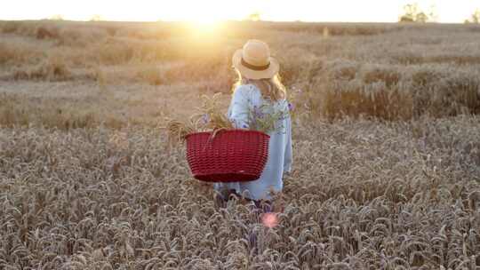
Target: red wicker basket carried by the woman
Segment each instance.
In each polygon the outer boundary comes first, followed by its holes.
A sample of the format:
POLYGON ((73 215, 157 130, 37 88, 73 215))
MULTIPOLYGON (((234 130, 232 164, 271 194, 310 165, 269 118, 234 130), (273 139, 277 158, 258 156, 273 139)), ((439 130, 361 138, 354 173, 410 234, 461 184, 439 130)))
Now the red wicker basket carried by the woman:
POLYGON ((187 136, 187 160, 196 179, 206 182, 252 181, 268 159, 270 137, 260 131, 197 132, 187 136))

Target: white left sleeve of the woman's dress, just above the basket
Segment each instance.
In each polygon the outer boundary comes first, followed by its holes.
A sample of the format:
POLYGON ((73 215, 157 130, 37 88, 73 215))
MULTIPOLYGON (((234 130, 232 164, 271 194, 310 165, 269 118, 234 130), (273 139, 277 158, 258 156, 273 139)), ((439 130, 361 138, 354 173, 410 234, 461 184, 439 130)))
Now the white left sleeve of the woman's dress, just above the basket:
POLYGON ((228 109, 228 118, 234 122, 236 128, 248 128, 248 115, 251 100, 249 98, 249 89, 240 85, 234 91, 230 107, 228 109))

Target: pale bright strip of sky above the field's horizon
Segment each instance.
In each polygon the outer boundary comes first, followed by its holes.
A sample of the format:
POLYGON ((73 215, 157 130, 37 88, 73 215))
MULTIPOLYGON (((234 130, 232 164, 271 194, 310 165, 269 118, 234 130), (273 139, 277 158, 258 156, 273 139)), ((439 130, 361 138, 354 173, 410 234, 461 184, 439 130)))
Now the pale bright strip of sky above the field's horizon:
POLYGON ((2 0, 0 20, 241 20, 260 12, 262 20, 394 22, 403 6, 435 5, 439 22, 463 22, 480 0, 2 0))

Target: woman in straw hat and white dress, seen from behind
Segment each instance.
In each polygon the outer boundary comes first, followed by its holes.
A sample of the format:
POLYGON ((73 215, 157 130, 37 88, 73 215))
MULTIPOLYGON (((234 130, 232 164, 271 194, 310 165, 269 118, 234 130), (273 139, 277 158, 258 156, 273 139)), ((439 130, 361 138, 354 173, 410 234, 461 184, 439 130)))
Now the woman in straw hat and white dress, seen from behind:
POLYGON ((276 130, 268 134, 268 161, 260 179, 216 183, 214 188, 219 191, 217 196, 220 196, 217 200, 224 203, 231 194, 243 195, 257 207, 264 201, 267 203, 266 211, 270 211, 273 195, 271 191, 282 191, 284 171, 290 172, 292 166, 292 122, 288 113, 290 106, 286 100, 285 87, 278 77, 279 64, 275 58, 270 57, 268 44, 249 40, 243 49, 235 52, 232 63, 238 80, 233 87, 228 118, 236 123, 236 128, 248 128, 252 124, 252 118, 249 117, 252 113, 271 114, 274 111, 283 111, 284 114, 280 114, 283 116, 276 120, 276 130))

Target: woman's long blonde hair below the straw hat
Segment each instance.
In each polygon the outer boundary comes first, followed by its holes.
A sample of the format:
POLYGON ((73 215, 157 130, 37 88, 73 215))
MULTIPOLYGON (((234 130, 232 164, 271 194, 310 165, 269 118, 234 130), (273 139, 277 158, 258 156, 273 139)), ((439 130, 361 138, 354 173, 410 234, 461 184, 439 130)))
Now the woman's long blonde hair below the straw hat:
POLYGON ((272 101, 286 99, 286 88, 284 86, 284 83, 282 83, 280 75, 277 74, 269 79, 253 80, 243 77, 242 74, 240 74, 240 72, 238 71, 238 69, 235 70, 238 79, 236 80, 236 83, 234 83, 232 91, 235 91, 236 87, 240 85, 253 84, 257 86, 257 88, 259 88, 261 95, 264 98, 268 98, 272 101))

